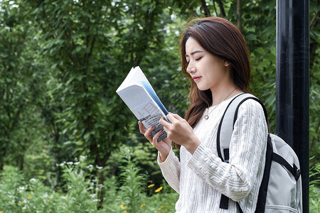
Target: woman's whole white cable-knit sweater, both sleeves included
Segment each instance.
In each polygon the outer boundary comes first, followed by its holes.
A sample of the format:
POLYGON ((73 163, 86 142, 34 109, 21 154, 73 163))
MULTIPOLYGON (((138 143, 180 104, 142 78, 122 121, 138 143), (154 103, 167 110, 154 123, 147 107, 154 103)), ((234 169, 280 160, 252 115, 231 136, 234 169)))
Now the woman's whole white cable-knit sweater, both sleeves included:
POLYGON ((172 149, 164 162, 158 157, 166 182, 179 194, 176 212, 239 212, 235 202, 243 212, 255 212, 265 167, 267 124, 259 103, 252 99, 244 102, 230 142, 230 161, 223 163, 218 158, 216 137, 231 99, 206 109, 209 119, 201 119, 193 129, 201 141, 193 155, 181 146, 180 160, 172 149), (219 207, 221 193, 231 199, 228 209, 219 207))

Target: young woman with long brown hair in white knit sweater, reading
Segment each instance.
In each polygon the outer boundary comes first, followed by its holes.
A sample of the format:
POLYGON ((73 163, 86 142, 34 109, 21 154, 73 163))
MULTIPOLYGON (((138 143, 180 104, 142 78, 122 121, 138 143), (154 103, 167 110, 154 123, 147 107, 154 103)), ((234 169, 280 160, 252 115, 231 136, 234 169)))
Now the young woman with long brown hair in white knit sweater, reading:
POLYGON ((230 141, 230 161, 218 157, 218 124, 233 97, 250 92, 250 59, 245 40, 223 18, 198 18, 181 36, 182 70, 191 80, 191 107, 185 119, 169 114, 161 119, 168 137, 157 142, 153 126, 140 132, 159 151, 166 181, 179 194, 176 212, 255 212, 262 180, 267 124, 262 107, 253 100, 241 104, 230 141), (171 148, 180 146, 180 160, 171 148), (221 209, 221 194, 230 198, 221 209))

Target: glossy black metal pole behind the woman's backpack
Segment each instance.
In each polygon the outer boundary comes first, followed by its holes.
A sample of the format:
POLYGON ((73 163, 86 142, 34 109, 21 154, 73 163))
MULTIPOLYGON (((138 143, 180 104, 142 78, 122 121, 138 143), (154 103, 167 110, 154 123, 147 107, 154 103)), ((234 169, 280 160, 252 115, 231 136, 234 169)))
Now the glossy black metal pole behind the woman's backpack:
POLYGON ((309 0, 277 0, 276 126, 298 155, 309 212, 309 0))

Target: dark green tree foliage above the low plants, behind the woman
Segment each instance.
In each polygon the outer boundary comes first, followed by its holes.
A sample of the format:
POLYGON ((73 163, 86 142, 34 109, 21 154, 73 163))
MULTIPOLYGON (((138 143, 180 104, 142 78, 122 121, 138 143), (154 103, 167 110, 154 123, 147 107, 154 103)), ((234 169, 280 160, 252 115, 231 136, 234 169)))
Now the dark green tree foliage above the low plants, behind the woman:
MULTIPOLYGON (((319 162, 319 2, 310 1, 310 150, 319 162)), ((110 166, 127 144, 150 151, 115 90, 139 65, 169 111, 188 107, 179 35, 188 18, 222 16, 242 31, 250 50, 250 89, 265 102, 275 131, 274 0, 0 1, 0 170, 15 165, 29 178, 62 186, 56 163, 87 155, 110 166), (113 160, 112 160, 113 159, 113 160)), ((144 155, 142 155, 144 156, 144 155)), ((107 175, 92 170, 102 184, 107 175)), ((92 175, 90 174, 90 175, 92 175)), ((159 173, 151 174, 152 180, 159 173)), ((103 197, 103 195, 98 195, 103 197)), ((102 204, 102 203, 101 203, 102 204)), ((1 210, 1 209, 0 209, 1 210)))

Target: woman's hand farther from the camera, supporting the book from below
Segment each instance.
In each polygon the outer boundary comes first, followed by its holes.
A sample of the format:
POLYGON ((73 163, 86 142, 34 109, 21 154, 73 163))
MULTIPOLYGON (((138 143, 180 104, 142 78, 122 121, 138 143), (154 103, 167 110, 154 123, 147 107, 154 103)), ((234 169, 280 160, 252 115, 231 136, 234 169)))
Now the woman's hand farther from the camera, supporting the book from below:
POLYGON ((159 131, 154 135, 154 137, 151 137, 151 131, 154 130, 154 126, 151 126, 149 129, 144 129, 144 124, 142 124, 141 121, 138 121, 139 124, 139 131, 148 139, 148 141, 159 151, 159 157, 162 162, 166 160, 166 157, 169 155, 169 152, 171 150, 171 142, 168 138, 164 138, 162 141, 157 141, 159 136, 162 133, 162 130, 159 131))

